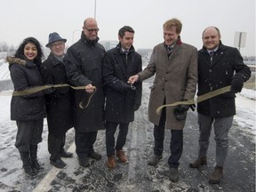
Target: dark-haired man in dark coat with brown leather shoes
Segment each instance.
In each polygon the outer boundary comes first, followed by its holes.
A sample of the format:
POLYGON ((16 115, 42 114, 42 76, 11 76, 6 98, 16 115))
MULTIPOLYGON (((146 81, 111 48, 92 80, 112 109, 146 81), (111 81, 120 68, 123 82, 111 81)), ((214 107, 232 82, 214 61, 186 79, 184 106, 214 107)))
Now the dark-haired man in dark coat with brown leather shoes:
POLYGON ((108 168, 116 167, 116 156, 123 163, 128 161, 123 147, 134 111, 140 108, 142 83, 127 84, 129 76, 139 73, 142 61, 133 47, 134 30, 129 26, 120 28, 119 44, 109 50, 104 57, 103 78, 106 84, 106 148, 108 168), (115 144, 116 128, 119 132, 115 144))

